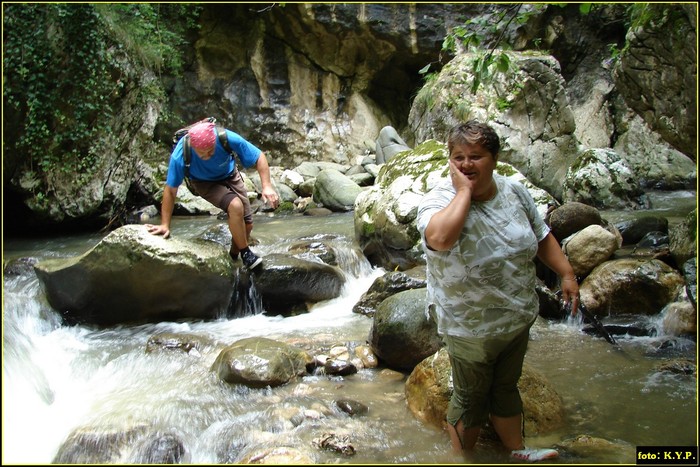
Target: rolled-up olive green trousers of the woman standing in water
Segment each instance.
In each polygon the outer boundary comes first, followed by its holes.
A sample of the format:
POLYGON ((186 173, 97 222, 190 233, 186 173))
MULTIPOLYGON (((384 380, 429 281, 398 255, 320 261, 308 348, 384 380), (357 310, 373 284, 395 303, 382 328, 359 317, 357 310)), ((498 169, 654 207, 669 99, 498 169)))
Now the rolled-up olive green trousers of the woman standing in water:
POLYGON ((444 336, 454 387, 447 408, 451 425, 462 420, 465 428, 481 427, 489 414, 522 413, 518 380, 529 336, 530 326, 489 338, 444 336))

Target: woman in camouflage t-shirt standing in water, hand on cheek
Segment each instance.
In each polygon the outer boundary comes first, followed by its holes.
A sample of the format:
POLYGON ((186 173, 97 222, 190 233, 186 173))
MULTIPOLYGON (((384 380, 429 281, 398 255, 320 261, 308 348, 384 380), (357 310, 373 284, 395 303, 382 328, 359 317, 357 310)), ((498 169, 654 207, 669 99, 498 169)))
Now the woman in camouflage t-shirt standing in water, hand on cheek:
POLYGON ((561 277, 564 301, 576 310, 573 268, 527 189, 494 173, 500 141, 489 125, 472 120, 455 126, 447 147, 450 178, 425 195, 417 226, 429 312, 452 366, 452 446, 469 457, 490 418, 511 457, 557 457, 554 449, 525 447, 517 383, 539 312, 533 259, 561 277))

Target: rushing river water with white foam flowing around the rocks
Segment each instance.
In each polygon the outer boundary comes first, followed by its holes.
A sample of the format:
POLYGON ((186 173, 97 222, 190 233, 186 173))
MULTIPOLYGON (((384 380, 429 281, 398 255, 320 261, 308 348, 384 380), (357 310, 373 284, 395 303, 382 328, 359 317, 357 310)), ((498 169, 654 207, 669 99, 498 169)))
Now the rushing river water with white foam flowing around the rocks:
MULTIPOLYGON (((668 215, 672 222, 695 204, 694 192, 659 196, 657 213, 668 215), (677 209, 666 210, 671 204, 677 209)), ((608 214, 604 217, 612 221, 636 215, 608 214)), ((219 222, 175 218, 173 235, 200 235, 219 222)), ((254 250, 262 255, 284 251, 291 239, 314 234, 339 238, 339 248, 348 251, 341 263, 348 282, 339 298, 287 318, 262 313, 207 322, 68 327, 48 306, 33 273, 5 275, 3 464, 48 464, 75 428, 129 423, 175 431, 186 447, 183 460, 192 464, 226 462, 221 454, 227 452, 226 440, 230 444, 237 437, 250 443, 300 447, 311 453, 315 463, 457 462, 449 453, 447 435, 424 425, 408 410, 407 375, 381 365, 346 377, 307 376, 260 390, 232 387, 212 377, 209 368, 221 346, 243 337, 266 336, 316 347, 367 339, 371 318, 352 313, 352 306, 385 271, 352 254, 352 213, 323 218, 258 216, 253 236, 259 244, 254 250), (204 336, 212 344, 197 355, 146 354, 149 337, 166 331, 204 336), (355 399, 369 411, 356 417, 330 413, 328 407, 336 399, 355 399), (293 429, 250 428, 269 425, 279 418, 278 411, 290 405, 306 407, 308 420, 293 429), (325 432, 347 435, 355 454, 345 456, 314 446, 325 432)), ((4 261, 74 256, 100 238, 5 239, 4 261)), ((559 393, 566 422, 556 432, 528 436, 528 444, 565 446, 579 435, 614 443, 614 448, 589 452, 562 449, 559 462, 586 465, 635 463, 636 446, 697 445, 695 376, 658 371, 666 358, 697 361, 695 342, 663 335, 619 336, 617 340, 621 350, 584 333, 580 322, 541 319, 535 324, 526 363, 543 373, 559 393)), ((480 463, 508 461, 498 452, 482 456, 480 463)))

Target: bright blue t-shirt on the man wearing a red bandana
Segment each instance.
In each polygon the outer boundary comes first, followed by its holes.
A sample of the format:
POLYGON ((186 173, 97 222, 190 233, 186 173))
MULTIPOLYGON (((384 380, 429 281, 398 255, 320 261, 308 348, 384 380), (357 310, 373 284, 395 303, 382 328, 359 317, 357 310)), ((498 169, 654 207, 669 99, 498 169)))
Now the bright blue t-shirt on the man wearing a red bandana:
MULTIPOLYGON (((258 147, 249 143, 241 135, 231 130, 226 130, 226 137, 228 138, 229 146, 238 155, 241 164, 243 164, 245 168, 252 167, 258 162, 258 158, 262 153, 258 147)), ((165 183, 173 188, 180 186, 185 178, 185 160, 182 151, 184 141, 185 138, 180 138, 172 154, 170 154, 168 177, 165 183)), ((190 159, 190 178, 194 180, 225 180, 233 174, 236 168, 235 161, 221 145, 218 136, 216 138, 214 155, 206 161, 199 157, 194 148, 190 149, 192 151, 192 157, 190 159)))

